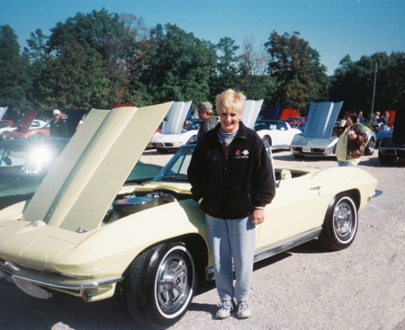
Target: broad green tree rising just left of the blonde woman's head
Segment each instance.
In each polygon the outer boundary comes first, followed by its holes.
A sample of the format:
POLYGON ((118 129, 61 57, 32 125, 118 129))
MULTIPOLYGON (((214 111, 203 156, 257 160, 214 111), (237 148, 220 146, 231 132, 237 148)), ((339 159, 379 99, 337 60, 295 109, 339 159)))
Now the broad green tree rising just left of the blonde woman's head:
POLYGON ((172 24, 157 24, 151 30, 151 42, 145 58, 147 70, 140 80, 152 102, 206 101, 216 61, 211 42, 199 40, 172 24))

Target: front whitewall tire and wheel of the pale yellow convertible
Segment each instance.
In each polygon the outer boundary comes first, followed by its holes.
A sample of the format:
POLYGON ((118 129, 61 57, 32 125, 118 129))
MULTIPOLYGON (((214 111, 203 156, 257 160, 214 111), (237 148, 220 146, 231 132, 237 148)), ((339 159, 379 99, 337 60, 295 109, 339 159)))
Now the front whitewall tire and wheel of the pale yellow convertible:
POLYGON ((182 242, 154 246, 130 264, 127 281, 132 317, 141 326, 166 329, 184 316, 193 299, 193 256, 182 242))

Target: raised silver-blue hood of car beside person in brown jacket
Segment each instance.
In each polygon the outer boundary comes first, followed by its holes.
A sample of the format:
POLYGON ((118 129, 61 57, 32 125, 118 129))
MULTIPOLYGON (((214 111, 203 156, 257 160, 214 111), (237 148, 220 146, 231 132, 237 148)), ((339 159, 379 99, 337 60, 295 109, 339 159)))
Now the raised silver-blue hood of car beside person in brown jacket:
POLYGON ((304 138, 330 138, 343 102, 311 103, 303 132, 304 138))

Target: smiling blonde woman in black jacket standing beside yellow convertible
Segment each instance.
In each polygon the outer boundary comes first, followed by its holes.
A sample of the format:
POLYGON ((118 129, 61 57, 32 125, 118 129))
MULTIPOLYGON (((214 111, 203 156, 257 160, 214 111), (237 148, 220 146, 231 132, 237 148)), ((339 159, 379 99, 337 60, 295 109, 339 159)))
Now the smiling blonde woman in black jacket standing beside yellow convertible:
POLYGON ((266 147, 240 120, 246 97, 231 89, 217 96, 220 124, 198 143, 188 168, 193 200, 205 212, 215 282, 220 296, 216 317, 229 317, 233 299, 238 317, 250 317, 248 304, 256 226, 275 197, 275 178, 266 147), (232 259, 235 268, 233 286, 232 259))

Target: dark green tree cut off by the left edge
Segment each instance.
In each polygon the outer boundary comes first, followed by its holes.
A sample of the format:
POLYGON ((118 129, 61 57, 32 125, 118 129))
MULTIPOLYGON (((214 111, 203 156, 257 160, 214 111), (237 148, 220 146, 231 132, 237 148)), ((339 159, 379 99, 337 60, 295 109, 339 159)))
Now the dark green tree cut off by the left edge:
POLYGON ((20 45, 9 25, 0 26, 0 105, 10 111, 23 111, 30 104, 26 91, 30 88, 28 59, 20 54, 20 45))

